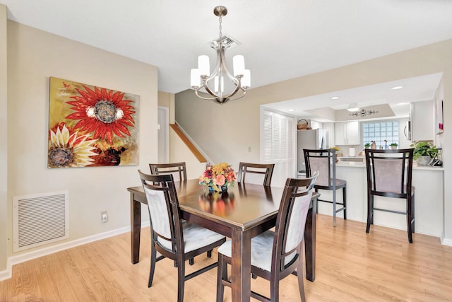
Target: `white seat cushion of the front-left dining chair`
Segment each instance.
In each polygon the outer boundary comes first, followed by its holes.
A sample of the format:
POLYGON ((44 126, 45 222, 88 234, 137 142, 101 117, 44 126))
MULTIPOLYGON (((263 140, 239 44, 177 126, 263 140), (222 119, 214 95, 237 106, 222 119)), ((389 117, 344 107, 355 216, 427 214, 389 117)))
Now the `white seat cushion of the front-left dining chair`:
MULTIPOLYGON (((202 248, 206 245, 210 245, 210 243, 225 238, 225 236, 222 236, 219 233, 215 233, 194 223, 189 223, 188 221, 182 222, 182 229, 184 232, 184 252, 191 252, 192 250, 202 248)), ((172 249, 171 243, 168 240, 163 238, 158 238, 157 240, 167 250, 172 249)))

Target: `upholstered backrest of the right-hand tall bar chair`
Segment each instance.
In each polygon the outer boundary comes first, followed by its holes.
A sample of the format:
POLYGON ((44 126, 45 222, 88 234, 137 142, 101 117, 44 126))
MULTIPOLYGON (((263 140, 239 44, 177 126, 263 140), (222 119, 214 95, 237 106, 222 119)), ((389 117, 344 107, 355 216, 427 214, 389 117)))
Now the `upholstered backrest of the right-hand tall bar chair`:
POLYGON ((413 149, 366 149, 369 194, 406 198, 412 190, 413 149))

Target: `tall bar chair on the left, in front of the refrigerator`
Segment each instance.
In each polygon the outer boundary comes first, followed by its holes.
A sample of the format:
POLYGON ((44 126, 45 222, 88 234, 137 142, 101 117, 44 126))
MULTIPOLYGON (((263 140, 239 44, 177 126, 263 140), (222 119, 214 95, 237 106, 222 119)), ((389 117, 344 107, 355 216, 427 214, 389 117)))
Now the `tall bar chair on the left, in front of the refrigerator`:
POLYGON ((319 171, 314 188, 319 190, 331 190, 333 200, 317 199, 318 202, 333 204, 333 226, 336 226, 336 214, 344 212, 347 219, 347 181, 336 178, 335 149, 303 149, 304 161, 306 163, 306 175, 309 177, 312 171, 319 171), (336 191, 342 189, 342 202, 338 202, 336 191), (337 204, 342 205, 339 209, 337 204))

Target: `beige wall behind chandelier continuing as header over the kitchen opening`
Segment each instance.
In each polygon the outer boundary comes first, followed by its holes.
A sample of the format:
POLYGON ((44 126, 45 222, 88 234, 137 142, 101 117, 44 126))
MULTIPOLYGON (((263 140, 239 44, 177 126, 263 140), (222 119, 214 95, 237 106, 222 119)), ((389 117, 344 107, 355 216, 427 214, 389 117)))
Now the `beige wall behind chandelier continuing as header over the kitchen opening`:
MULTIPOLYGON (((386 81, 444 72, 444 181, 452 181, 452 40, 302 76, 248 91, 225 105, 177 93, 176 120, 215 162, 259 161, 260 105, 342 91, 386 81), (251 152, 249 151, 251 147, 251 152)), ((444 186, 444 214, 452 217, 452 187, 444 186)), ((452 245, 452 220, 445 219, 444 243, 452 245)))

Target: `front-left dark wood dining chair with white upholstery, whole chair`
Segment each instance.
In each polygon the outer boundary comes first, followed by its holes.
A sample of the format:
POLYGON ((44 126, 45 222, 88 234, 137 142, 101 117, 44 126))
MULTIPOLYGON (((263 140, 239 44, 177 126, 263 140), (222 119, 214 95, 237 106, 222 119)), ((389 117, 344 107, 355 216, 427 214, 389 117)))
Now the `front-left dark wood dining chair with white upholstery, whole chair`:
POLYGON ((213 250, 225 242, 225 236, 183 221, 172 174, 149 175, 138 170, 150 216, 150 273, 148 287, 153 284, 156 262, 165 257, 177 267, 177 301, 184 301, 184 283, 217 266, 217 262, 185 274, 185 261, 213 250), (157 257, 157 252, 160 256, 157 257))

